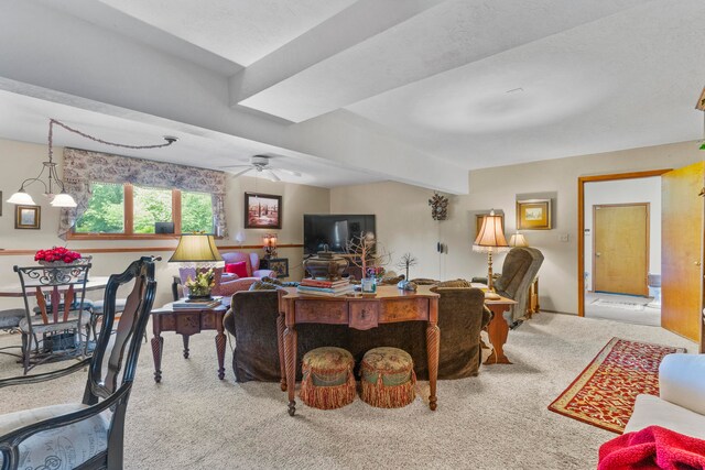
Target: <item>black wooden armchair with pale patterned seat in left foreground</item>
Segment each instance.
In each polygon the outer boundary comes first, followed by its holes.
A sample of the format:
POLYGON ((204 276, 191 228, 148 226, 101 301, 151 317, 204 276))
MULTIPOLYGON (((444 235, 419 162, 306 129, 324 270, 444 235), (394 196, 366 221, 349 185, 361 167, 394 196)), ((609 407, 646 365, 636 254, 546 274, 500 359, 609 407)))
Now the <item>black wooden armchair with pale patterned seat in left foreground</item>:
POLYGON ((0 389, 58 379, 88 368, 82 403, 45 406, 0 416, 0 468, 122 469, 124 419, 142 335, 156 282, 154 262, 143 256, 108 280, 100 335, 91 358, 36 375, 0 380, 0 389), (116 321, 118 288, 134 281, 116 321))

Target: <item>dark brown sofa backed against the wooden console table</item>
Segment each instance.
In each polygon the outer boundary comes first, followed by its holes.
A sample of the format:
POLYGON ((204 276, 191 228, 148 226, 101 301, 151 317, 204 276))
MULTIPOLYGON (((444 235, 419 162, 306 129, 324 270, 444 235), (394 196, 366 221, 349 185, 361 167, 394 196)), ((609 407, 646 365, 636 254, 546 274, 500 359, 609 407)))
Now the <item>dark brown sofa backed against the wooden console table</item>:
MULTIPOLYGON (((438 379, 477 375, 481 352, 480 330, 491 314, 485 309, 485 295, 477 288, 437 287, 438 328, 441 329, 438 379)), ((225 328, 235 337, 232 370, 238 382, 280 380, 276 343, 279 315, 276 291, 247 291, 232 295, 225 328)), ((368 350, 394 347, 409 352, 420 380, 427 380, 426 323, 401 321, 360 331, 344 325, 296 325, 297 358, 323 346, 345 348, 359 364, 368 350)), ((301 361, 296 364, 301 380, 301 361)))

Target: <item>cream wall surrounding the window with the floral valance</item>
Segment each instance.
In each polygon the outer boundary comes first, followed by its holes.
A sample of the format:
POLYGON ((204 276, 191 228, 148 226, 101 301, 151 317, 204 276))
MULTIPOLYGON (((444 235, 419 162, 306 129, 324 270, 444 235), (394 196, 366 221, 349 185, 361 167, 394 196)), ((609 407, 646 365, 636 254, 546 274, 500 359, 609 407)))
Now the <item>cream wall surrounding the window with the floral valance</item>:
MULTIPOLYGON (((41 168, 41 162, 46 160, 46 145, 37 145, 25 142, 0 139, 0 164, 6 171, 0 172, 0 190, 2 192, 2 216, 0 217, 0 285, 17 284, 17 274, 12 266, 34 264, 33 255, 8 255, 2 254, 2 250, 23 249, 36 251, 39 249, 54 245, 66 245, 73 250, 83 251, 85 249, 108 249, 108 248, 133 248, 135 251, 119 253, 95 253, 93 254, 95 275, 109 275, 121 272, 128 263, 140 255, 158 254, 163 261, 156 266, 158 297, 156 304, 163 304, 171 298, 172 275, 177 273, 177 265, 169 264, 166 260, 172 254, 171 247, 175 248, 177 240, 119 240, 119 241, 83 241, 69 240, 65 242, 56 234, 58 227, 59 209, 48 205, 41 194, 41 184, 29 187, 29 193, 34 201, 42 206, 41 230, 17 230, 14 229, 14 207, 6 203, 12 193, 18 190, 23 179, 35 177, 41 168), (39 186, 37 186, 39 185, 39 186), (149 248, 169 248, 169 250, 150 251, 149 248)), ((54 147, 54 157, 59 164, 63 160, 63 149, 54 147)), ((218 240, 218 245, 237 245, 235 234, 243 227, 243 194, 254 192, 275 194, 283 196, 283 219, 281 230, 248 229, 243 230, 247 240, 245 244, 260 245, 261 237, 265 232, 276 232, 280 244, 303 243, 303 214, 315 211, 327 214, 329 210, 329 190, 313 186, 295 185, 288 183, 272 183, 261 178, 239 177, 229 179, 227 184, 226 212, 230 237, 227 240, 218 240)), ((246 249, 243 251, 257 251, 263 255, 262 249, 246 249)), ((301 267, 303 250, 301 248, 283 248, 279 250, 279 255, 289 258, 290 277, 299 280, 302 277, 301 267)), ((98 298, 101 295, 98 294, 98 298)), ((93 295, 95 298, 95 295, 93 295)), ((20 298, 0 297, 0 309, 21 307, 20 298)))

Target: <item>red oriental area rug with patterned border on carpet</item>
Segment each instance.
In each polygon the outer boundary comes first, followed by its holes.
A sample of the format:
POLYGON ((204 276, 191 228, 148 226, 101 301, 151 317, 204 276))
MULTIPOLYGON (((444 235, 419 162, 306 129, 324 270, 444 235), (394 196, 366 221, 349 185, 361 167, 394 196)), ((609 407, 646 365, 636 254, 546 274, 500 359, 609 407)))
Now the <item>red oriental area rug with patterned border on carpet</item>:
POLYGON ((659 364, 683 348, 612 338, 549 409, 622 433, 637 395, 659 394, 659 364))

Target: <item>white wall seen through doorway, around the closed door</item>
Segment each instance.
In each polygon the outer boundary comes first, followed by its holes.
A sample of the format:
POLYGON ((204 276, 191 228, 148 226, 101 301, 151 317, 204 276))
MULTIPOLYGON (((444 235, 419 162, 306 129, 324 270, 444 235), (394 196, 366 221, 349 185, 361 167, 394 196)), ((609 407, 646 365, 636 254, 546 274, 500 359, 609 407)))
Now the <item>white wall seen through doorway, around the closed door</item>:
POLYGON ((593 206, 649 203, 649 273, 661 274, 661 177, 585 184, 585 283, 593 283, 593 206))

